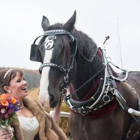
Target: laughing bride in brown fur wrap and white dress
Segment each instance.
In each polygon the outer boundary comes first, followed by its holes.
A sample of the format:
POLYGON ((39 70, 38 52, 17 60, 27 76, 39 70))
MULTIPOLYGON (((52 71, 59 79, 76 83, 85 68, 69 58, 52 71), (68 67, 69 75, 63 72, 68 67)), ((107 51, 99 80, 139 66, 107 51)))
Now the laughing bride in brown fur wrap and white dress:
MULTIPOLYGON (((16 112, 19 122, 13 122, 16 140, 66 140, 66 136, 41 104, 28 96, 27 82, 19 69, 0 71, 0 93, 18 98, 20 110, 16 112)), ((56 115, 56 114, 55 114, 56 115)), ((11 140, 7 129, 0 130, 0 140, 11 140)))

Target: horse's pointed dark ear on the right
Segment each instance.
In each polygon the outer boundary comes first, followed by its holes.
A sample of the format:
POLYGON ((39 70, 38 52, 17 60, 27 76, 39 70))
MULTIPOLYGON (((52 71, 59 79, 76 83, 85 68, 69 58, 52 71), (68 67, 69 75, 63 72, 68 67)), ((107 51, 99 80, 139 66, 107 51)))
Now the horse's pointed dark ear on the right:
POLYGON ((74 11, 74 14, 72 17, 64 24, 64 29, 67 31, 71 31, 74 28, 74 24, 76 21, 76 10, 74 11))

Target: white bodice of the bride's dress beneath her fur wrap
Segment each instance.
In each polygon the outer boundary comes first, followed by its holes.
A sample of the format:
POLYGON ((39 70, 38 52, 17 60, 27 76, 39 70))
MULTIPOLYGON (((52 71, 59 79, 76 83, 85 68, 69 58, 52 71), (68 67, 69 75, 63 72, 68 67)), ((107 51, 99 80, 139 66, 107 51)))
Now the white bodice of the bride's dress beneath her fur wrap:
POLYGON ((35 135, 39 131, 39 122, 36 117, 27 118, 18 116, 18 120, 23 131, 24 140, 34 140, 35 135))

